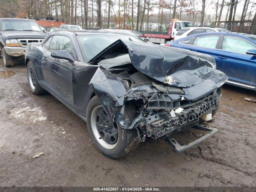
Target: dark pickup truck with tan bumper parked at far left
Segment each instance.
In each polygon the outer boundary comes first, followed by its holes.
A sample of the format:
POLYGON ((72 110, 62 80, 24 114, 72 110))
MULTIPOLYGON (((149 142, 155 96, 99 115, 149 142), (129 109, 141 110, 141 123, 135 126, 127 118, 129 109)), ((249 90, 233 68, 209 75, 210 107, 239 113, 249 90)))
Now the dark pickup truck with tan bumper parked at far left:
POLYGON ((24 56, 28 43, 41 42, 46 34, 34 20, 0 19, 0 49, 4 65, 14 66, 15 58, 24 56))

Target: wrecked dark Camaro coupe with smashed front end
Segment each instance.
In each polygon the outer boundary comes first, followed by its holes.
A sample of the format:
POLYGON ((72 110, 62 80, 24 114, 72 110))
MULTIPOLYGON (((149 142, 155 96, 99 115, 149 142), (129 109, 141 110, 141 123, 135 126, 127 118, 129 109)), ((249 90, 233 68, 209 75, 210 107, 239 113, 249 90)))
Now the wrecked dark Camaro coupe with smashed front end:
POLYGON ((28 45, 25 60, 31 91, 50 92, 85 120, 110 158, 146 137, 181 152, 217 131, 199 124, 216 114, 227 80, 211 56, 131 36, 63 31, 28 45), (181 146, 172 135, 188 128, 210 133, 181 146))

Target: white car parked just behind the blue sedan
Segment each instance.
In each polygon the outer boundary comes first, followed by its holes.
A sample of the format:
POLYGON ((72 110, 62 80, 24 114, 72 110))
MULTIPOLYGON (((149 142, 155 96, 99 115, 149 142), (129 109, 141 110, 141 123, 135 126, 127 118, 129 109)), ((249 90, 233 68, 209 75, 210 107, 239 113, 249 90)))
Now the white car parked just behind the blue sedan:
POLYGON ((212 27, 185 27, 178 31, 173 40, 198 34, 198 33, 213 33, 213 32, 226 32, 230 33, 229 30, 223 28, 212 28, 212 27))

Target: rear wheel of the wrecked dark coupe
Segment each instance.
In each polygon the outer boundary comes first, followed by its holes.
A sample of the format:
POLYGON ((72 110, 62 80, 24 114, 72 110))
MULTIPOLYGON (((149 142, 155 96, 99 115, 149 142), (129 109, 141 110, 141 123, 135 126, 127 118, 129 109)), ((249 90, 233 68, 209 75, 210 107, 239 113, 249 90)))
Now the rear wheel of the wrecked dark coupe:
POLYGON ((35 95, 41 95, 44 93, 44 89, 40 87, 38 84, 38 80, 36 77, 36 72, 34 70, 34 66, 31 61, 28 62, 27 65, 27 71, 28 71, 28 84, 30 86, 30 90, 35 95))

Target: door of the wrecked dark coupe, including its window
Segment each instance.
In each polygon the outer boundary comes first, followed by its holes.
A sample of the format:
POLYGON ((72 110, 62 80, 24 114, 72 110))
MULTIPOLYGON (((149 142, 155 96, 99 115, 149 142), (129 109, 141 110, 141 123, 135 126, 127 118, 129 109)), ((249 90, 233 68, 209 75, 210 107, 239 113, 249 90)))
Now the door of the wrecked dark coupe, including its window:
MULTIPOLYGON (((54 50, 67 50, 75 59, 74 46, 68 36, 54 35, 50 43, 50 52, 54 50)), ((74 106, 73 90, 72 90, 72 68, 73 64, 65 59, 53 58, 51 54, 47 57, 48 70, 50 71, 52 91, 65 104, 74 106)))

